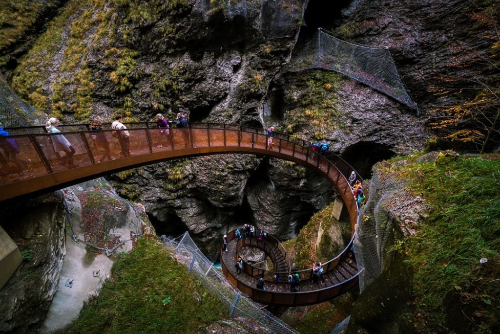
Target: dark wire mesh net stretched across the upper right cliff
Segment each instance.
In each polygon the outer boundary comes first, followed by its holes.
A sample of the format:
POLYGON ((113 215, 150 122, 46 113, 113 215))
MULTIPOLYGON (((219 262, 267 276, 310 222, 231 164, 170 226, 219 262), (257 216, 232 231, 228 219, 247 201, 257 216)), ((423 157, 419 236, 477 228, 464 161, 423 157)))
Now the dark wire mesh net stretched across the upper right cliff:
POLYGON ((342 73, 416 109, 386 48, 352 44, 319 29, 285 68, 288 72, 307 69, 342 73))

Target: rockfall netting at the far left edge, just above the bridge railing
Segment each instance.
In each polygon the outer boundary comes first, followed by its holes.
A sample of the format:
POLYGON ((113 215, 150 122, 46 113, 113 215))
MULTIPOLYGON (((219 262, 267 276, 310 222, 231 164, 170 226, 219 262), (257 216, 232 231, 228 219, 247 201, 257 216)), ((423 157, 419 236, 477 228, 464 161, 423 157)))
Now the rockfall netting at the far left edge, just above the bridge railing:
POLYGON ((0 123, 4 128, 30 126, 36 110, 19 99, 0 75, 0 123))

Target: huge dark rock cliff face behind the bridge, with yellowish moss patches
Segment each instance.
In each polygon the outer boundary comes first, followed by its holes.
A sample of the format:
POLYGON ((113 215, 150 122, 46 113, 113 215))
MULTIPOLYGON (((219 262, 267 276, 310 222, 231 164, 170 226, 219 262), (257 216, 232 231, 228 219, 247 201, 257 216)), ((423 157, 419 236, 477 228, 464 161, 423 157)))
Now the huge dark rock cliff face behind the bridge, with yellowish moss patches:
MULTIPOLYGON (((485 50, 468 29, 474 6, 70 0, 15 70, 12 61, 2 70, 22 98, 66 123, 115 113, 151 121, 161 112, 171 119, 187 109, 191 122, 275 125, 306 140, 325 138, 368 176, 374 162, 424 147, 429 133, 422 120, 449 102, 434 95, 438 77, 464 76, 465 85, 467 76, 451 60, 461 52, 455 43, 485 50), (419 113, 341 75, 279 73, 318 27, 388 46, 419 113)), ((144 202, 165 233, 187 228, 214 244, 250 217, 287 238, 327 202, 330 188, 286 166, 260 157, 196 158, 145 167, 114 185, 144 202), (282 173, 302 177, 286 180, 282 173)))

